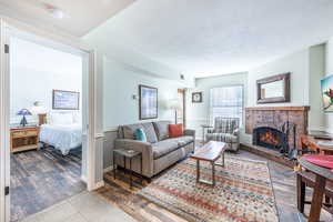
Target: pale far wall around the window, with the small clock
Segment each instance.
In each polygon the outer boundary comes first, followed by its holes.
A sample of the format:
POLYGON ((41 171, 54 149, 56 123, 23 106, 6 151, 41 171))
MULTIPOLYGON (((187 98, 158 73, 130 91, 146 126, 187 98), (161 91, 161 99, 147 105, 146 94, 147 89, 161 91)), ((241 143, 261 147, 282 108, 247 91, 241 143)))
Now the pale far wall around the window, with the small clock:
POLYGON ((210 89, 214 87, 235 84, 244 85, 244 107, 246 107, 248 72, 200 78, 195 80, 195 88, 190 89, 186 93, 186 118, 188 128, 194 129, 196 131, 198 138, 202 138, 202 128, 200 125, 209 123, 210 89), (203 102, 192 103, 192 92, 202 92, 203 102))

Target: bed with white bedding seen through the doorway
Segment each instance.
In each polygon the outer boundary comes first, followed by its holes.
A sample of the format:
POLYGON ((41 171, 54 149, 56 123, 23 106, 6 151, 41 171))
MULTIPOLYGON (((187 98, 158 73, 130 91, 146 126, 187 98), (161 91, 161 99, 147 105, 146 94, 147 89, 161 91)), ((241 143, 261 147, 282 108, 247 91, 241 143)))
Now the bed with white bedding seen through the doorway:
POLYGON ((73 119, 71 113, 57 115, 51 115, 49 123, 40 127, 40 141, 67 155, 70 150, 82 145, 82 125, 70 120, 73 119))

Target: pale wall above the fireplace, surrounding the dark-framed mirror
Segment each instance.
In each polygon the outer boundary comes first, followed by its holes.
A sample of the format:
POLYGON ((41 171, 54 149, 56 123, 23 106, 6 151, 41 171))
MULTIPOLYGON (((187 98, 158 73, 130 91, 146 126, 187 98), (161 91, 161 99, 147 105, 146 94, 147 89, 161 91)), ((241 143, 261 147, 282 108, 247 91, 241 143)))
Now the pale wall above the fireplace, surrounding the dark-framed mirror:
POLYGON ((320 80, 325 70, 325 44, 300 50, 249 71, 249 107, 311 105, 309 130, 325 130, 320 80), (291 102, 256 104, 256 80, 291 72, 291 102))

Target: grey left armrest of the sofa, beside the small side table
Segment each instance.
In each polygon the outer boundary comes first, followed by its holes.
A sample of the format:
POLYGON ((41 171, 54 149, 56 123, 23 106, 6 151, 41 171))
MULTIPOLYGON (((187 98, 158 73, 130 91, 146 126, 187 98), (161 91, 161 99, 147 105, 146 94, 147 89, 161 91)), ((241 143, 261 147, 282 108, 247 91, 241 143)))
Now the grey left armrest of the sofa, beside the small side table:
POLYGON ((151 143, 130 139, 115 139, 114 149, 127 149, 141 152, 142 173, 147 176, 153 175, 153 151, 151 143))

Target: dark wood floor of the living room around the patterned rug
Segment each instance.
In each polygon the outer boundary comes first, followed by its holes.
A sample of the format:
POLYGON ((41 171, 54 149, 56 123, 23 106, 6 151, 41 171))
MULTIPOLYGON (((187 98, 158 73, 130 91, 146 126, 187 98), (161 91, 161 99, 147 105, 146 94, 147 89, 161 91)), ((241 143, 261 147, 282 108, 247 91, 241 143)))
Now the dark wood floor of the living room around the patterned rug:
MULTIPOLYGON (((265 160, 264 158, 242 150, 238 154, 228 153, 228 155, 238 155, 252 160, 265 160)), ((296 209, 296 180, 294 171, 291 168, 274 161, 265 161, 269 163, 280 221, 306 221, 306 219, 300 214, 296 209)), ((184 221, 178 215, 154 203, 148 202, 143 198, 140 198, 135 194, 138 190, 148 184, 147 181, 143 185, 141 183, 135 183, 134 189, 130 190, 128 185, 128 176, 123 172, 120 173, 121 175, 117 180, 113 180, 112 172, 105 173, 105 186, 99 189, 97 193, 118 204, 138 221, 184 221)), ((311 191, 307 193, 311 194, 311 191)), ((311 195, 307 198, 310 199, 311 195)), ((309 205, 305 211, 309 213, 309 205)), ((321 219, 323 221, 332 221, 331 214, 325 211, 322 211, 321 219)))

